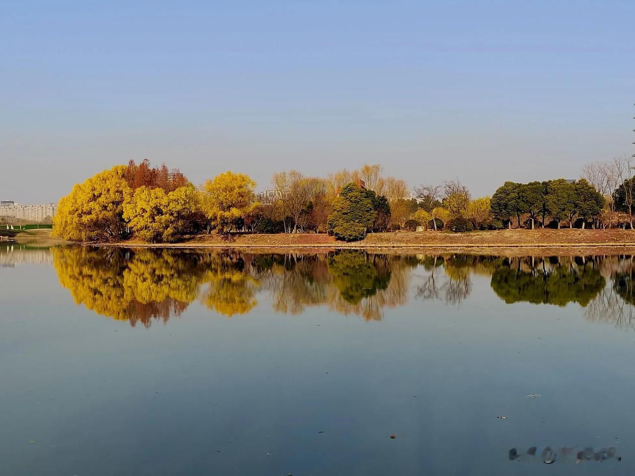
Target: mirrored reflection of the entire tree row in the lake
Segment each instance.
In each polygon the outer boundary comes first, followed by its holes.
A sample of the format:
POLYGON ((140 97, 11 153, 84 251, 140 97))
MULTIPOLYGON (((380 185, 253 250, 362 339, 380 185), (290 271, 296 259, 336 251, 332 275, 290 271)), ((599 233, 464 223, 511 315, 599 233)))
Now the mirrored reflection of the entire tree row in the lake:
POLYGON ((635 329, 630 256, 259 254, 73 246, 53 248, 51 254, 62 286, 77 304, 133 326, 166 322, 195 300, 227 317, 248 314, 262 300, 285 314, 325 306, 380 321, 387 308, 410 298, 460 306, 485 279, 508 304, 577 303, 589 321, 635 329))

